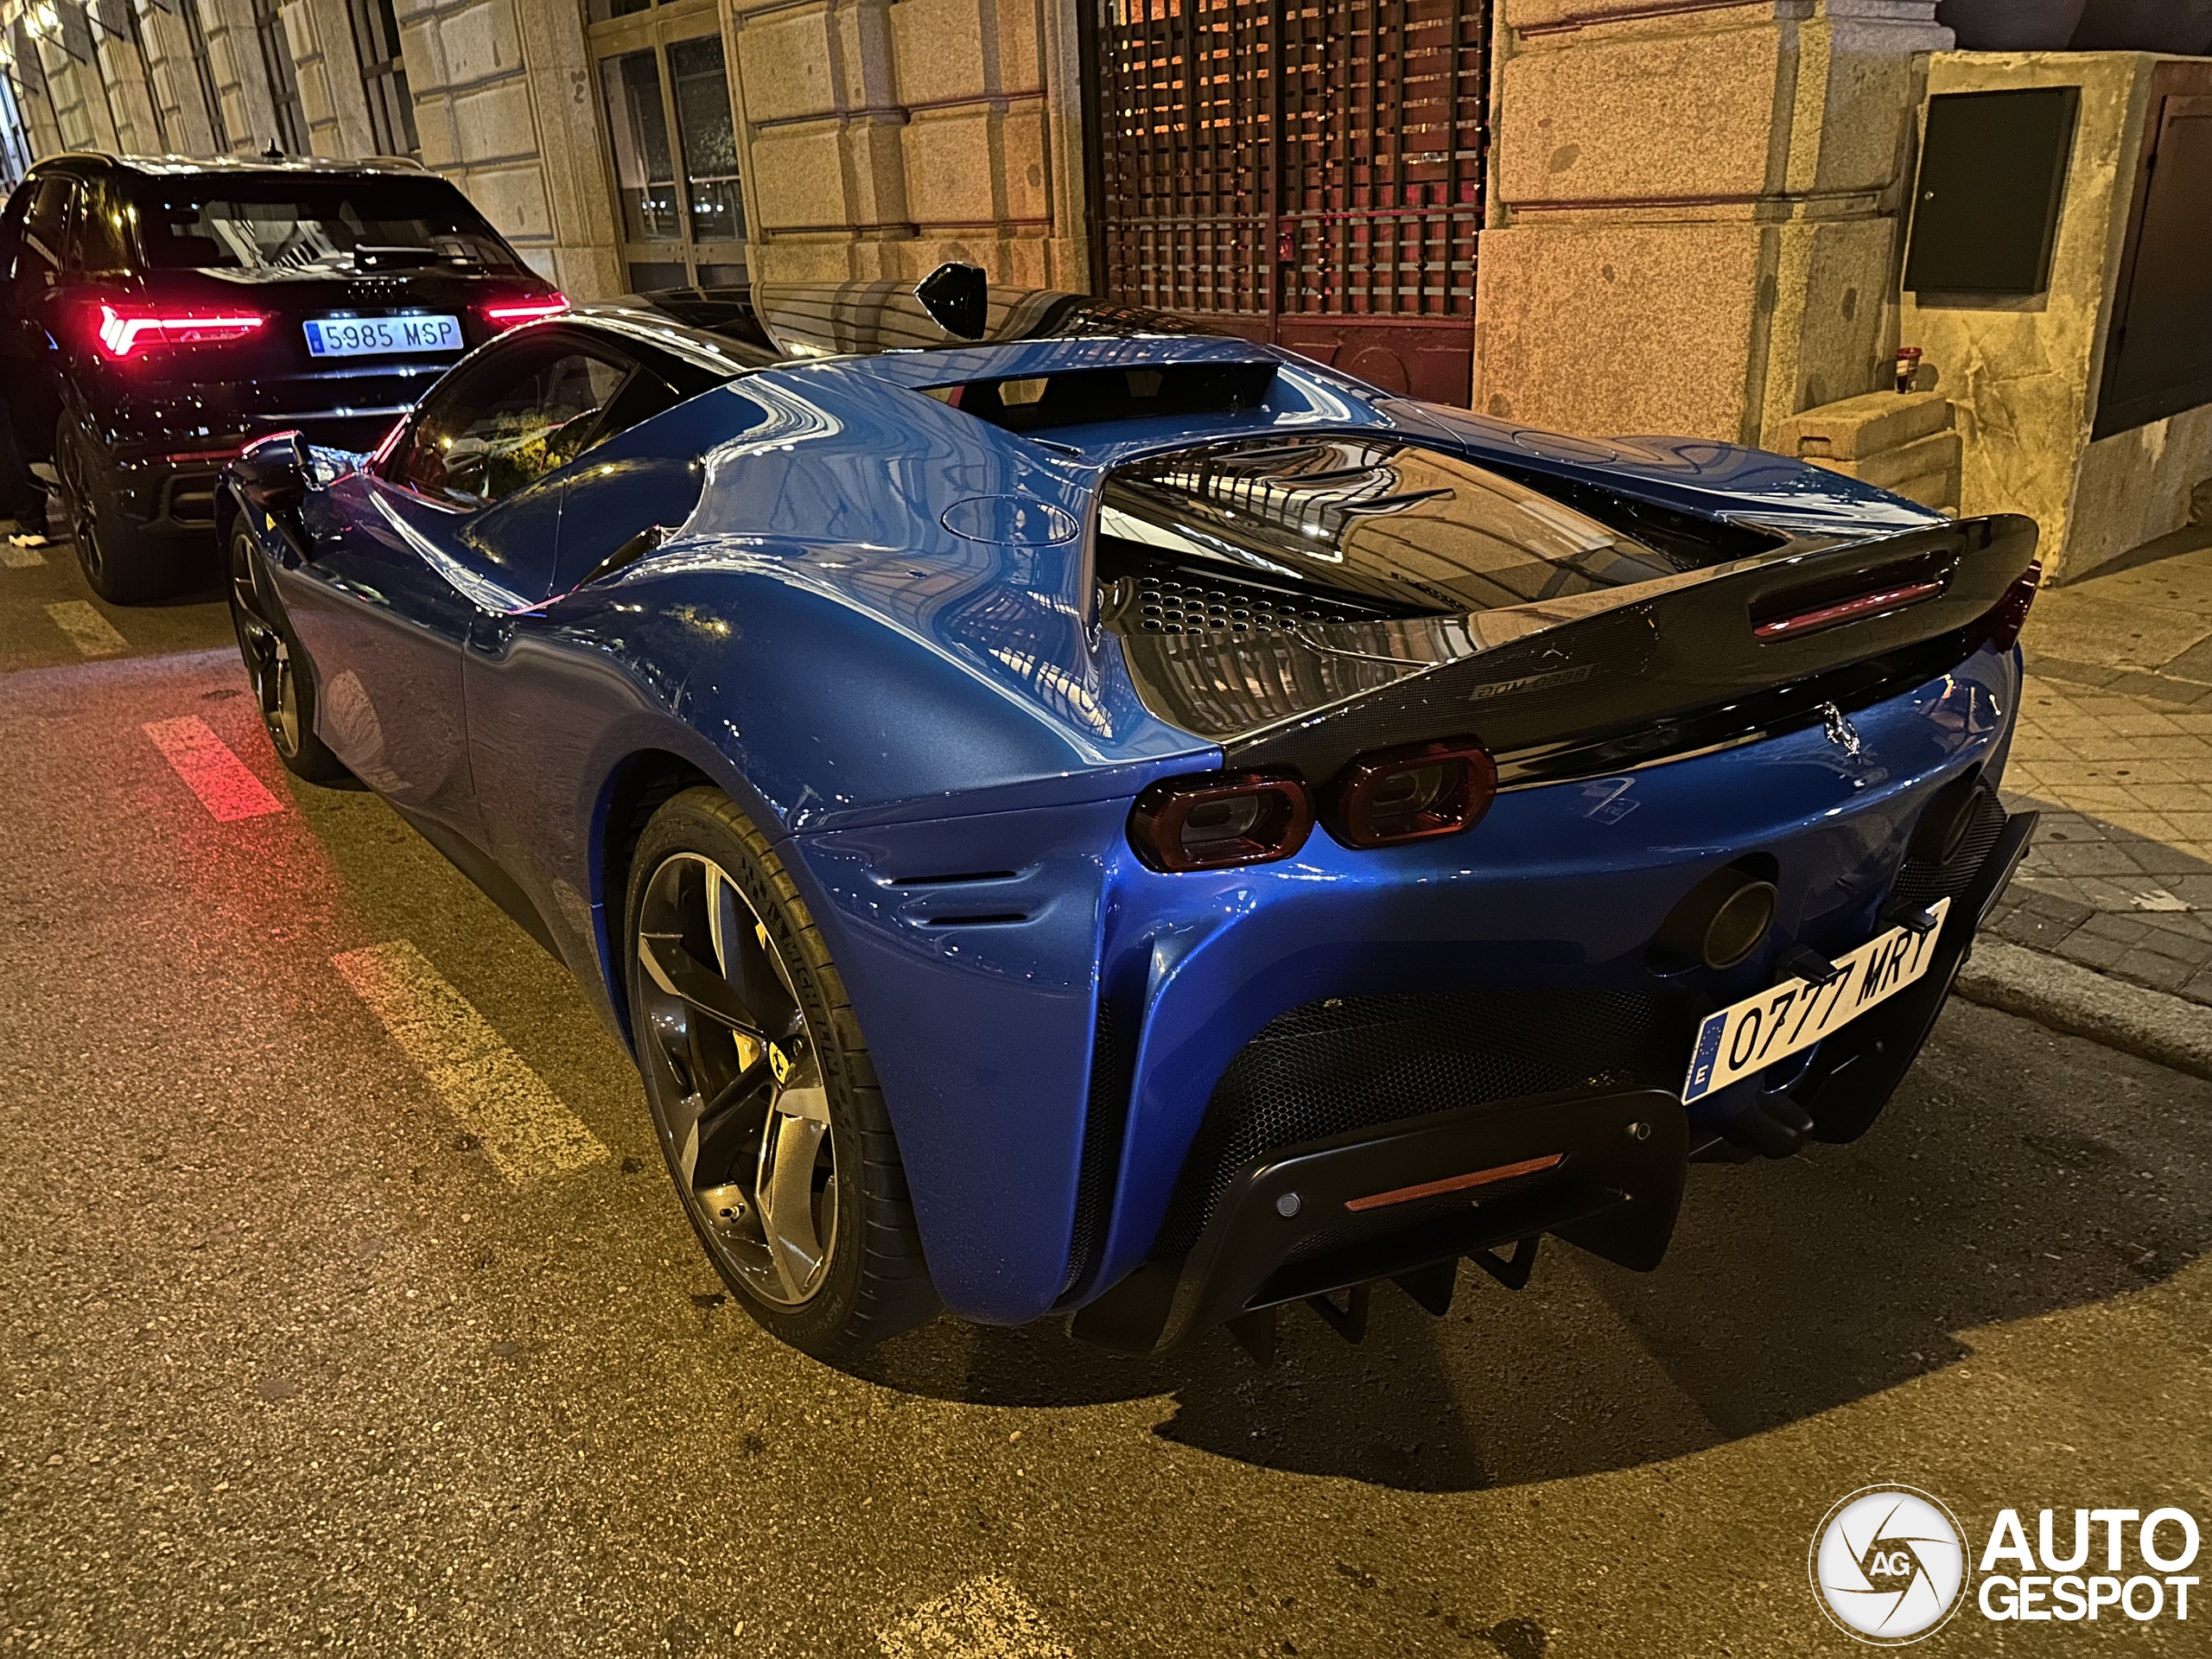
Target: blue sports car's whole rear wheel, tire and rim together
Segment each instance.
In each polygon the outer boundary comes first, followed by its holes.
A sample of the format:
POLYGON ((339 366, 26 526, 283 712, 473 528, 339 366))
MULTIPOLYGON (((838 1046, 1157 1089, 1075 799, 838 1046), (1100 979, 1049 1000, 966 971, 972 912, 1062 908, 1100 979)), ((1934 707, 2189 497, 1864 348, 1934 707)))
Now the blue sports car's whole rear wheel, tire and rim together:
POLYGON ((655 1137, 745 1312, 825 1360, 931 1318, 860 1022, 790 872, 719 790, 653 814, 622 945, 655 1137))

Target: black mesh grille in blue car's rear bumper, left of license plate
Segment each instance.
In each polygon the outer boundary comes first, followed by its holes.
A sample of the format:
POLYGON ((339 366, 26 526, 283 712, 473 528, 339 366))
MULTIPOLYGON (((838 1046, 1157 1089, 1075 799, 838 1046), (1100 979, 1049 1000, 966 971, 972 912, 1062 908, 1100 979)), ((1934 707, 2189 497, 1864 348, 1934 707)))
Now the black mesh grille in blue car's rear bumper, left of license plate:
POLYGON ((1686 1060, 1688 1031, 1644 991, 1310 1002, 1221 1075, 1152 1254, 1188 1254, 1237 1170, 1267 1152, 1562 1088, 1672 1088, 1686 1060))

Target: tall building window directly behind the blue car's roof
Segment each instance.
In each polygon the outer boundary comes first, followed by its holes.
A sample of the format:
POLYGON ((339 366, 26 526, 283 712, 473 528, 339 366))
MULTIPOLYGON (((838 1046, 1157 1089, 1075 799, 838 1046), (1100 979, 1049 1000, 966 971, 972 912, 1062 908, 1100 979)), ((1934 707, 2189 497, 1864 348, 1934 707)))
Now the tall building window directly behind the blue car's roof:
POLYGON ((730 64, 712 0, 593 0, 591 46, 635 292, 745 281, 730 64))

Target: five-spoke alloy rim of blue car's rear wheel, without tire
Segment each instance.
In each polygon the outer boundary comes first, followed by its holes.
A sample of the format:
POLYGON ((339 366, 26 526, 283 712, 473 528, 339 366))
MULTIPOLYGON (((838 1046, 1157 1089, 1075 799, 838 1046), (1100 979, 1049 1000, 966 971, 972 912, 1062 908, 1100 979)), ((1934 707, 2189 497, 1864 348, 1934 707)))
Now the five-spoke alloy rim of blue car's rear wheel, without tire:
POLYGON ((646 1093, 677 1190, 748 1292, 799 1307, 836 1241, 821 1053, 768 927, 712 858, 677 852, 637 909, 646 1093))

